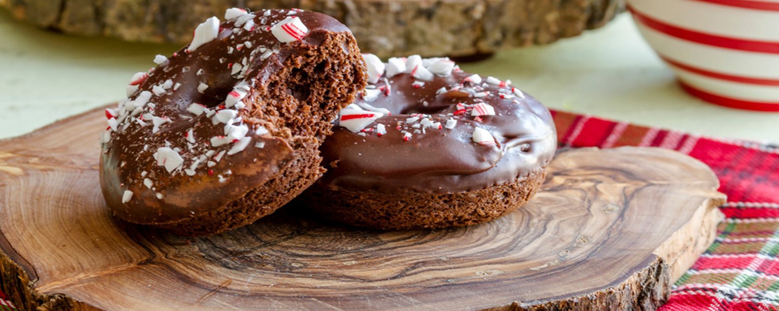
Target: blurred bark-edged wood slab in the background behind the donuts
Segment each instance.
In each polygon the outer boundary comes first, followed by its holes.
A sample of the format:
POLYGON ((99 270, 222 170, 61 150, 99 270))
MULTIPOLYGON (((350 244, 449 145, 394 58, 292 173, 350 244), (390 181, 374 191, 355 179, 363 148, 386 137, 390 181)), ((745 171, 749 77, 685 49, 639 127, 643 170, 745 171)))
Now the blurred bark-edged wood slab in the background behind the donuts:
POLYGON ((189 43, 233 6, 324 12, 381 57, 464 56, 548 44, 605 25, 624 0, 0 0, 13 16, 65 33, 189 43))

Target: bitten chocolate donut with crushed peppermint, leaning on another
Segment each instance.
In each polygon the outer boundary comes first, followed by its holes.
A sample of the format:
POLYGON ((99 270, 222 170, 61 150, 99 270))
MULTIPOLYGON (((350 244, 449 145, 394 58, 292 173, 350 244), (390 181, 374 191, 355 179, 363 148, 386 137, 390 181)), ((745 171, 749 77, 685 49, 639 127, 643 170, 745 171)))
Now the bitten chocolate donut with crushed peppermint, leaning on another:
POLYGON ((324 169, 330 121, 365 86, 350 30, 299 9, 227 9, 189 46, 157 55, 106 110, 100 185, 128 222, 180 235, 268 215, 324 169))

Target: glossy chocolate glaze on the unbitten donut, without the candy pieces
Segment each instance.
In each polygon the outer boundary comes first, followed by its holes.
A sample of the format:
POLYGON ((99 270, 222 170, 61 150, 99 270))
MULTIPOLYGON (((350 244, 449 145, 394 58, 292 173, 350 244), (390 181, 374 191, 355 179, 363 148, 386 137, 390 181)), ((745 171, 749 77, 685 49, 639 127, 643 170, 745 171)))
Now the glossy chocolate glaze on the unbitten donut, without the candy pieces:
MULTIPOLYGON (((487 82, 474 85, 464 82, 468 76, 455 70, 449 76, 435 76, 418 88, 412 86, 418 80, 409 74, 388 79, 390 94, 381 94, 369 102, 373 107, 390 110, 391 115, 375 121, 385 124, 386 135, 368 132, 362 136, 346 128, 334 128, 321 149, 325 163, 332 165, 318 185, 333 190, 349 187, 449 194, 513 182, 543 169, 556 149, 555 126, 549 111, 531 96, 513 96, 511 86, 487 82), (452 90, 460 86, 464 88, 452 90), (442 87, 449 91, 437 94, 442 87), (489 95, 478 98, 474 92, 489 95), (501 93, 511 94, 508 96, 512 98, 502 99, 501 93), (481 116, 479 122, 469 111, 459 114, 453 129, 428 128, 425 134, 414 134, 408 142, 396 129, 398 122, 411 114, 430 114, 433 121, 446 124, 456 112, 457 103, 488 103, 495 108, 495 116, 481 116), (498 144, 472 142, 477 126, 492 132, 498 144)), ((380 89, 386 82, 381 79, 375 87, 380 89)))

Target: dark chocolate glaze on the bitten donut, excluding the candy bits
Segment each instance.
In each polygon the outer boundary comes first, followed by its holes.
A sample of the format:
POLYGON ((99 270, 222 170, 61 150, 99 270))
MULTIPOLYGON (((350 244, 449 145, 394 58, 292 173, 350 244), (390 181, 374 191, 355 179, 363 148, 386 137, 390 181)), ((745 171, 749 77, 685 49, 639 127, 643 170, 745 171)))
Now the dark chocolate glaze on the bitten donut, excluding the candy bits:
MULTIPOLYGON (((270 135, 255 133, 260 121, 252 117, 252 111, 263 104, 263 99, 256 95, 257 90, 268 87, 287 59, 315 49, 332 33, 350 31, 330 16, 296 12, 294 16, 301 19, 309 33, 302 40, 284 44, 273 36, 270 26, 289 17, 289 11, 270 10, 270 15, 265 12, 252 12, 256 15, 252 19, 256 24, 253 30, 234 27, 235 19, 221 23, 216 39, 195 51, 182 48, 157 68, 152 68, 139 89, 129 96, 129 100, 134 100, 139 93, 152 91, 153 86, 167 79, 181 83, 178 89, 171 88, 160 96, 152 96, 153 109, 147 106, 136 117, 123 117, 118 131, 110 131, 110 140, 104 141, 100 183, 108 207, 115 215, 141 224, 171 223, 199 215, 223 207, 265 183, 278 173, 284 162, 293 159, 293 149, 284 140, 274 137, 273 128, 268 128, 270 135), (251 47, 245 44, 247 41, 251 47), (239 47, 239 44, 243 45, 239 47), (261 47, 275 52, 260 59, 264 51, 260 51, 261 47), (228 65, 239 64, 244 58, 249 66, 245 77, 232 75, 228 65), (187 108, 191 103, 202 103, 217 110, 241 81, 251 86, 244 100, 246 107, 238 113, 243 124, 249 127, 247 137, 252 138, 249 146, 232 156, 225 154, 218 162, 215 155, 208 156, 206 161, 213 161, 215 165, 208 166, 203 161, 195 169, 196 173, 188 176, 184 169, 205 152, 213 150, 218 154, 230 150, 233 144, 212 147, 210 138, 224 135, 225 124, 213 124, 206 114, 196 117, 187 108), (209 86, 203 93, 198 91, 201 82, 209 86), (147 112, 156 117, 167 117, 170 122, 160 125, 159 131, 153 133, 152 125, 142 127, 136 120, 147 112), (129 125, 124 128, 125 124, 129 125), (196 138, 194 144, 185 137, 190 129, 196 138), (257 148, 257 143, 264 143, 263 148, 257 148), (153 157, 158 148, 166 145, 180 149, 178 153, 184 159, 182 167, 172 173, 164 166, 157 166, 153 157), (151 181, 150 187, 144 185, 146 178, 151 181), (125 190, 132 191, 132 199, 122 203, 125 190)), ((152 121, 145 122, 150 124, 152 121)))

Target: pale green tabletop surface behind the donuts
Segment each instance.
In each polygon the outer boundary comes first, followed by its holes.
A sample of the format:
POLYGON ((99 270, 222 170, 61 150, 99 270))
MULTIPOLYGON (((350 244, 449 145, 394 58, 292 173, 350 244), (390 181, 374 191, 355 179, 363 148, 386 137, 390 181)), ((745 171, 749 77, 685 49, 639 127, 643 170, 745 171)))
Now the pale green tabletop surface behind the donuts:
MULTIPOLYGON (((133 73, 152 67, 155 54, 177 49, 49 33, 15 22, 0 9, 0 138, 121 100, 133 73)), ((461 67, 511 79, 555 109, 719 138, 779 142, 779 113, 717 107, 679 89, 626 14, 581 37, 503 51, 461 67)))

